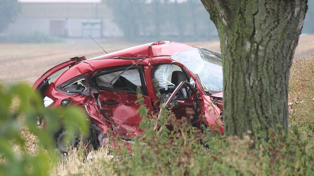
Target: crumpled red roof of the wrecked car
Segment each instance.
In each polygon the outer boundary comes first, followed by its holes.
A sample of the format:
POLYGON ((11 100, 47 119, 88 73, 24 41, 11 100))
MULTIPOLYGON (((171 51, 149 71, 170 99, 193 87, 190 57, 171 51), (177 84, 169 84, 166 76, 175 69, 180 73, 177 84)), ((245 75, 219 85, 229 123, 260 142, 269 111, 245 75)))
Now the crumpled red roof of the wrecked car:
MULTIPOLYGON (((66 72, 67 75, 75 75, 76 73, 85 74, 90 71, 97 71, 109 67, 119 67, 128 66, 135 64, 138 59, 148 58, 138 65, 149 65, 151 61, 157 61, 154 58, 158 57, 158 61, 163 60, 164 62, 170 62, 169 56, 173 54, 195 48, 194 46, 189 46, 182 43, 172 42, 172 41, 160 41, 147 43, 144 45, 135 46, 132 48, 127 48, 124 50, 116 51, 113 53, 105 54, 96 58, 80 61, 79 64, 74 65, 72 69, 66 72), (162 57, 163 56, 163 57, 162 57), (118 57, 118 58, 117 58, 118 57), (119 59, 119 57, 124 58, 134 58, 134 59, 119 59), (153 60, 151 60, 153 59, 153 60), (105 62, 104 62, 105 61, 105 62)), ((153 63, 154 63, 153 62, 153 63)), ((65 74, 65 73, 64 73, 65 74)), ((66 77, 59 77, 55 84, 59 86, 61 83, 67 81, 66 77)))

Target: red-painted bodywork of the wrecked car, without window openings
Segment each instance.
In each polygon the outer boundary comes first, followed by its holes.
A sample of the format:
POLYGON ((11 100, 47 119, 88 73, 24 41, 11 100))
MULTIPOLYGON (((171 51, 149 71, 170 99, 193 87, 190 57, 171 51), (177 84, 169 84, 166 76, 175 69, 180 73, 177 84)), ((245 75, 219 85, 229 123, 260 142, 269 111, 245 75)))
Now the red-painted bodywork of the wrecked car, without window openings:
MULTIPOLYGON (((48 96, 54 100, 54 103, 51 106, 60 106, 63 99, 70 98, 70 104, 83 106, 84 109, 87 110, 91 121, 97 124, 102 129, 103 133, 107 133, 107 130, 111 129, 123 138, 130 139, 134 135, 141 134, 141 130, 139 129, 141 117, 137 112, 139 104, 136 103, 137 95, 135 93, 128 93, 121 90, 100 90, 97 98, 95 96, 97 92, 92 92, 92 90, 87 94, 76 93, 68 95, 63 91, 58 90, 58 87, 78 76, 84 75, 87 78, 91 78, 95 72, 100 70, 120 66, 130 66, 140 60, 110 58, 145 57, 148 59, 139 63, 138 66, 143 67, 146 91, 148 93, 147 95, 144 95, 145 105, 149 108, 150 113, 153 113, 159 111, 160 103, 152 82, 154 67, 161 63, 176 64, 182 67, 195 81, 195 91, 197 91, 198 94, 196 100, 196 92, 186 100, 179 100, 176 111, 182 112, 186 107, 193 107, 193 102, 196 101, 199 106, 199 111, 197 113, 199 116, 205 116, 204 123, 212 129, 218 127, 218 130, 223 133, 224 127, 219 117, 219 108, 222 110, 222 107, 218 108, 212 102, 212 98, 216 97, 220 98, 221 101, 219 103, 222 103, 222 93, 209 96, 203 91, 197 78, 184 65, 170 59, 171 55, 190 48, 193 48, 193 46, 175 42, 155 42, 106 54, 89 60, 84 60, 84 58, 81 57, 53 67, 34 83, 33 88, 39 88, 42 82, 53 73, 72 65, 44 91, 44 96, 48 96), (101 110, 103 112, 101 112, 101 110)), ((184 115, 184 113, 178 115, 184 115)))

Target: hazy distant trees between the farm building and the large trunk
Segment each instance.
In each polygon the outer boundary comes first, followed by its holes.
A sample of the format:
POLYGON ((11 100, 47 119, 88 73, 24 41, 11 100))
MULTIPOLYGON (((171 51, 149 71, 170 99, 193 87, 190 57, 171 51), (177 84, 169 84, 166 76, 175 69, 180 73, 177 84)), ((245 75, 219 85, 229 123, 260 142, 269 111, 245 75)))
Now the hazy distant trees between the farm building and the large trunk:
POLYGON ((218 40, 200 0, 103 0, 129 41, 218 40))

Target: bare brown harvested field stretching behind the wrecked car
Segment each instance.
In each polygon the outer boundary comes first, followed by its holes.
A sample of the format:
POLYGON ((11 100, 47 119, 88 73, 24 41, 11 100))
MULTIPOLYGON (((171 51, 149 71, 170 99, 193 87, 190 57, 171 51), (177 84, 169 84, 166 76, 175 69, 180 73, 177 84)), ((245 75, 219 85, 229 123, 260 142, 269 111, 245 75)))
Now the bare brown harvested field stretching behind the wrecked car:
MULTIPOLYGON (((107 42, 101 45, 107 52, 136 46, 139 43, 107 42)), ((212 50, 220 51, 218 41, 190 42, 212 50)), ((314 53, 314 35, 300 37, 295 57, 314 53)), ((64 43, 0 44, 0 82, 26 81, 33 83, 51 67, 66 61, 72 56, 92 58, 103 52, 90 40, 69 40, 64 43)))

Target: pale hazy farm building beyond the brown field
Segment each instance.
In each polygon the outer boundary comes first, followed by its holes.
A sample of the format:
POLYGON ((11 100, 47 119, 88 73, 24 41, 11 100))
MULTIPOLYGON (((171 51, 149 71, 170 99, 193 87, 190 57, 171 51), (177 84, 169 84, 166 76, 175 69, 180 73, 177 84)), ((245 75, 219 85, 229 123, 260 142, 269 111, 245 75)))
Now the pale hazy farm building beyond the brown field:
POLYGON ((21 12, 6 30, 9 35, 28 35, 34 32, 72 38, 123 35, 113 22, 111 9, 100 3, 100 0, 20 1, 21 12))

